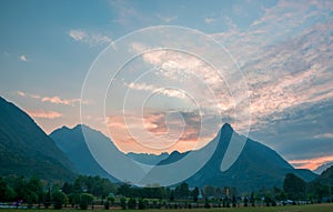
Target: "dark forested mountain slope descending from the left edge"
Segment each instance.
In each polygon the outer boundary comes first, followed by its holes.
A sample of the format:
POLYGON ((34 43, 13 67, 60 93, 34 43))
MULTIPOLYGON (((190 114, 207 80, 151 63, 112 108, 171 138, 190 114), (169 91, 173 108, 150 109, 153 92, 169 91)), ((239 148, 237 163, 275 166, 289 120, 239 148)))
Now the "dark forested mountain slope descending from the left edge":
POLYGON ((0 174, 44 180, 72 180, 73 166, 36 122, 14 104, 0 98, 0 174))

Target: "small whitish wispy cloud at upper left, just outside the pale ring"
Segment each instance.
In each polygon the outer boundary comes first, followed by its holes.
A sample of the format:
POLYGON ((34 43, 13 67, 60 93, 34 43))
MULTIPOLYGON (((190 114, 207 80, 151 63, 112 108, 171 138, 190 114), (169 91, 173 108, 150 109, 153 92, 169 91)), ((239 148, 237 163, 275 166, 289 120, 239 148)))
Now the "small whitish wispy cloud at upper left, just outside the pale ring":
POLYGON ((102 33, 91 33, 78 29, 71 29, 68 32, 68 36, 70 36, 74 41, 89 44, 89 47, 103 46, 112 42, 110 37, 102 33))

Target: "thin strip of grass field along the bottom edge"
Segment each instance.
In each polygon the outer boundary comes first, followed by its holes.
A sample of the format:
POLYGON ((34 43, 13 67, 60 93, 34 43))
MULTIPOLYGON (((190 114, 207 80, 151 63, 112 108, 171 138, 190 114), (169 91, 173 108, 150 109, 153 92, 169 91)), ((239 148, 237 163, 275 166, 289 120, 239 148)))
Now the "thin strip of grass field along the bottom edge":
MULTIPOLYGON (((71 211, 81 211, 74 209, 62 209, 62 210, 28 210, 28 209, 0 209, 0 211, 9 211, 9 212, 71 212, 71 211)), ((91 209, 87 211, 92 211, 91 209)), ((256 206, 256 208, 214 208, 214 209, 179 209, 179 210, 102 210, 102 209, 94 209, 93 211, 124 211, 124 212, 163 212, 163 211, 171 211, 171 212, 218 212, 218 211, 225 211, 225 212, 333 212, 333 203, 332 204, 307 204, 307 205, 287 205, 287 206, 256 206)))

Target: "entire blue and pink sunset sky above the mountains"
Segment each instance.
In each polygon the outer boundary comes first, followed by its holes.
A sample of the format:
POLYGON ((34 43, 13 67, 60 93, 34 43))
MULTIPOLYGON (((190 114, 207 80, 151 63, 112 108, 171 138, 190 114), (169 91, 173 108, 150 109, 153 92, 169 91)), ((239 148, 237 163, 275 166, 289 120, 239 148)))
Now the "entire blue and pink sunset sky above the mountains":
POLYGON ((333 161, 332 18, 330 0, 2 0, 0 95, 47 133, 83 120, 124 152, 198 149, 230 122, 294 166, 314 170, 333 161), (158 26, 193 31, 140 31, 158 26), (147 51, 175 41, 193 51, 147 51), (93 70, 117 68, 124 47, 138 57, 88 87, 93 70), (222 72, 200 58, 216 48, 221 58, 212 61, 225 63, 222 72), (112 51, 114 63, 99 62, 112 51), (99 115, 100 103, 83 97, 103 80, 99 115))

